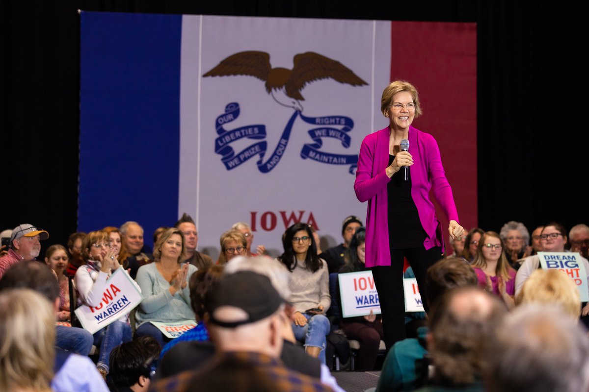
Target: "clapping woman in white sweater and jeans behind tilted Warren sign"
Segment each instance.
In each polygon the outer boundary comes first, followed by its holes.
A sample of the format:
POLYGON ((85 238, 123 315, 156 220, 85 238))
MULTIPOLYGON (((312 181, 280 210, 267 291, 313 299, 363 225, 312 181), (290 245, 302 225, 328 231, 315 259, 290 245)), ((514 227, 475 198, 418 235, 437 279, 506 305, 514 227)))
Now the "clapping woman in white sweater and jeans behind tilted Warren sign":
MULTIPOLYGON (((107 279, 121 267, 117 260, 116 249, 112 249, 107 232, 90 232, 82 242, 82 259, 86 262, 75 273, 75 287, 79 300, 88 306, 98 306, 102 293, 107 286, 107 279)), ((126 272, 125 272, 126 273, 126 272)), ((106 377, 110 352, 114 347, 130 341, 131 326, 128 313, 114 321, 106 328, 94 333, 95 346, 100 345, 100 354, 96 367, 106 377)))

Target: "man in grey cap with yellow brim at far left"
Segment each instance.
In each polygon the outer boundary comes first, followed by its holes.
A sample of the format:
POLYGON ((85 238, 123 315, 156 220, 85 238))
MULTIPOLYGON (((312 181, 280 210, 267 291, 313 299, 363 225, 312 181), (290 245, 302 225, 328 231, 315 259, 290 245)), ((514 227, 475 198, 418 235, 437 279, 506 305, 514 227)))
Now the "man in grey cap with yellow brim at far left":
POLYGON ((13 264, 35 260, 41 252, 40 240, 49 238, 49 233, 28 223, 18 225, 12 230, 10 249, 0 257, 0 279, 13 264))

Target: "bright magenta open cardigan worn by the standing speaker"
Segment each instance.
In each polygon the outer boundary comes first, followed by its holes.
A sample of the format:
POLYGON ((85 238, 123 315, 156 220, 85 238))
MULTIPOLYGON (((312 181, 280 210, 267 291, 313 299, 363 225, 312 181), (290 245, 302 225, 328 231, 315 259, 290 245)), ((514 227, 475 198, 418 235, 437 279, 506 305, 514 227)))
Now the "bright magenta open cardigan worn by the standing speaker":
MULTIPOLYGON (((368 200, 366 213, 366 266, 390 266, 388 197, 386 185, 391 180, 385 169, 389 163, 389 127, 370 133, 362 141, 358 157, 358 170, 354 190, 360 202, 368 200)), ((419 220, 426 233, 425 249, 441 246, 444 251, 442 227, 435 215, 429 190, 444 209, 448 220, 458 221, 452 189, 444 174, 438 143, 429 133, 409 127, 409 152, 413 156, 411 166, 411 196, 419 213, 419 220)), ((399 175, 396 173, 394 176, 399 175)), ((402 224, 400 222, 399 224, 402 224)))

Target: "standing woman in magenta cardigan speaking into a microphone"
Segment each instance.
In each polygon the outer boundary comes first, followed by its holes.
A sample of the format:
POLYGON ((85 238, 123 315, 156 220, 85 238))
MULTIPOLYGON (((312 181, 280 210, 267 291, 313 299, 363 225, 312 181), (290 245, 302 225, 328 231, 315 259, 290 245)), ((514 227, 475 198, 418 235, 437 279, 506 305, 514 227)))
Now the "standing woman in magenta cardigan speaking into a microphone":
POLYGON ((362 141, 354 189, 360 202, 368 201, 365 260, 372 267, 390 349, 395 341, 405 339, 403 258, 411 263, 427 311, 426 271, 444 252, 442 227, 429 199, 431 189, 448 217, 450 236, 461 237, 464 229, 458 224, 438 143, 411 126, 421 115, 415 87, 392 82, 382 93, 380 112, 389 125, 362 141))

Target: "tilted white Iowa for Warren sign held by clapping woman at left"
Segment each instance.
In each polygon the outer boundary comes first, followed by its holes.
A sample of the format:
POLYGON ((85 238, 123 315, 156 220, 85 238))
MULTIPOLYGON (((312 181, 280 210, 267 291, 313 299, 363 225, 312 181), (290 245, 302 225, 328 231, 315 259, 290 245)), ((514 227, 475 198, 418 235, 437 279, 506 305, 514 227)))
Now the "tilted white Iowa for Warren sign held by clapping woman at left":
POLYGON ((82 305, 75 314, 82 327, 93 334, 129 313, 142 300, 133 279, 119 268, 108 278, 100 304, 95 307, 82 305))

